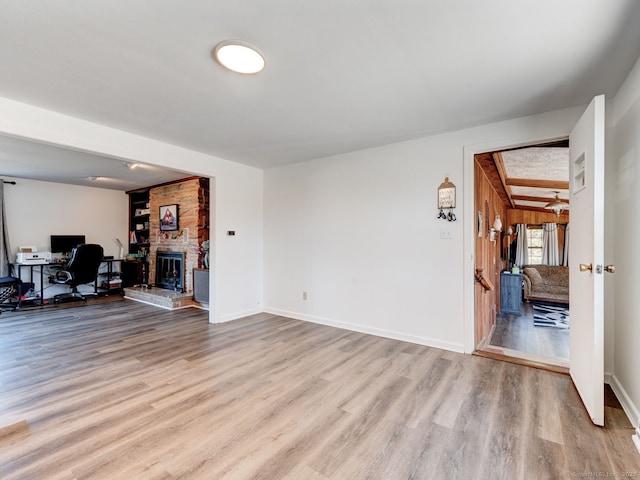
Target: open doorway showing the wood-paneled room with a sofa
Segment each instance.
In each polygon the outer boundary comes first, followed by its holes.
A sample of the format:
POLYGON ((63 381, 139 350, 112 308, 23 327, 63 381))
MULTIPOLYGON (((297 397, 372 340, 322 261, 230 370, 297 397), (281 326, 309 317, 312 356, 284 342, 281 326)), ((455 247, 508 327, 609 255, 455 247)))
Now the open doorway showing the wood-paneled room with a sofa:
POLYGON ((481 354, 568 371, 568 196, 568 139, 474 155, 475 274, 490 287, 474 289, 481 354))

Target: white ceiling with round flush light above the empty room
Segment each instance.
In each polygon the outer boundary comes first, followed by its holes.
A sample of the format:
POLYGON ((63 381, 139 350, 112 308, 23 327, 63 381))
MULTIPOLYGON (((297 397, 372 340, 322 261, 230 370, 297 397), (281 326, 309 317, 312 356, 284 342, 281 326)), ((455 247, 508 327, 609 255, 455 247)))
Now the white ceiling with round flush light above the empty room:
POLYGON ((0 96, 259 168, 586 104, 614 95, 640 56, 636 0, 0 0, 0 12, 0 96), (229 38, 267 68, 220 67, 211 52, 229 38))

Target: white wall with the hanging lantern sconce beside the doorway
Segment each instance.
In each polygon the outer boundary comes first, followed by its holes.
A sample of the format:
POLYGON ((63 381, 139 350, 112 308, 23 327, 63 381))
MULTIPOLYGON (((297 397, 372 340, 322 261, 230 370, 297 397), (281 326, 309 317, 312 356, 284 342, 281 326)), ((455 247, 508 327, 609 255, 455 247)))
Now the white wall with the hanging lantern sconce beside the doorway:
POLYGON ((266 310, 465 350, 473 338, 473 151, 567 136, 583 109, 267 170, 266 310), (458 187, 451 223, 436 219, 447 174, 458 187), (440 239, 441 230, 452 238, 440 239))

